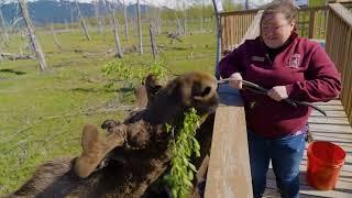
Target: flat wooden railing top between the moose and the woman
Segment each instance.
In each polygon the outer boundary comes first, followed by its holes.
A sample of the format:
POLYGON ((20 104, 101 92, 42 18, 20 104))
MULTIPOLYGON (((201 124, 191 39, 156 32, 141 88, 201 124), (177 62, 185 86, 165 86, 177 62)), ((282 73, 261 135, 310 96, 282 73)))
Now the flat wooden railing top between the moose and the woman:
POLYGON ((220 106, 216 112, 206 198, 252 198, 252 178, 246 124, 241 96, 237 89, 221 85, 220 106))

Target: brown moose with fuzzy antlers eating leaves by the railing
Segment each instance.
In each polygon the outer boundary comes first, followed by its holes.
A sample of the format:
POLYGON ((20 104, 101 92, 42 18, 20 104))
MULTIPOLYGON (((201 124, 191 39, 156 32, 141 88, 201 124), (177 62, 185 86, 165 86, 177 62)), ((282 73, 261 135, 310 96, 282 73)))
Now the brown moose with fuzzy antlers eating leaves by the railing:
POLYGON ((145 109, 121 123, 105 121, 105 136, 86 124, 80 156, 38 166, 9 197, 142 197, 170 160, 165 123, 177 125, 189 108, 199 116, 213 112, 219 103, 217 81, 204 73, 184 74, 166 86, 148 76, 145 87, 145 109))

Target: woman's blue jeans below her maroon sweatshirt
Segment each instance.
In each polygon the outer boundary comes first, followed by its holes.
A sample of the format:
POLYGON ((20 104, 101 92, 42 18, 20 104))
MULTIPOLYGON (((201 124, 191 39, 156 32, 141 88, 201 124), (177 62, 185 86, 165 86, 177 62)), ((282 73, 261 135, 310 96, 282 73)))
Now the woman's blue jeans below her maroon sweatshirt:
POLYGON ((270 160, 282 197, 299 197, 299 164, 304 155, 306 132, 307 129, 302 129, 300 134, 267 139, 249 130, 254 198, 262 197, 265 190, 270 160))

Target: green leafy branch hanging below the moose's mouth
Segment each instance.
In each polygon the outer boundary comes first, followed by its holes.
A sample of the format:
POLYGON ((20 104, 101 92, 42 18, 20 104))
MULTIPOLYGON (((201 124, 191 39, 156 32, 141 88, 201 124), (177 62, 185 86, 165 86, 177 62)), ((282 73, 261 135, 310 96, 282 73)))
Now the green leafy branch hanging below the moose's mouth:
POLYGON ((187 197, 193 187, 194 173, 197 172, 195 165, 190 163, 190 157, 195 154, 200 156, 200 145, 196 140, 196 130, 199 128, 200 117, 193 108, 185 113, 185 119, 180 124, 177 138, 175 139, 175 128, 166 125, 170 133, 172 168, 168 175, 164 177, 166 184, 172 189, 173 197, 187 197))

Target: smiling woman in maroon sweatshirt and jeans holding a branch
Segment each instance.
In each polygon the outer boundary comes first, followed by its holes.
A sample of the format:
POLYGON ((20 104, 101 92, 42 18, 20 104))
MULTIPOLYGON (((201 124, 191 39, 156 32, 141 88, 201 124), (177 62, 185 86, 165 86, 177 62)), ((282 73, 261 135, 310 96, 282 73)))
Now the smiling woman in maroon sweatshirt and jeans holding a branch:
POLYGON ((296 13, 292 2, 271 3, 263 12, 260 36, 219 64, 221 77, 230 78, 232 88, 242 89, 244 79, 270 89, 267 96, 241 90, 254 197, 265 190, 270 161, 282 197, 299 195, 299 164, 311 109, 282 100, 328 101, 341 90, 340 75, 324 50, 295 32, 296 13))

